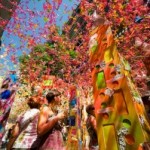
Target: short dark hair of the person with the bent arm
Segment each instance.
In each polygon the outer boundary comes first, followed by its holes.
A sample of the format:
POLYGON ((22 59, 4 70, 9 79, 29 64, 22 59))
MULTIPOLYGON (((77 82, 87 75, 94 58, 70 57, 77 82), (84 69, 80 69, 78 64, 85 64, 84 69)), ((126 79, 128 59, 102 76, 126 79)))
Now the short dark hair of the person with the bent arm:
POLYGON ((55 96, 59 96, 61 93, 57 90, 51 90, 47 93, 46 95, 46 99, 48 101, 48 103, 51 103, 54 100, 55 96))

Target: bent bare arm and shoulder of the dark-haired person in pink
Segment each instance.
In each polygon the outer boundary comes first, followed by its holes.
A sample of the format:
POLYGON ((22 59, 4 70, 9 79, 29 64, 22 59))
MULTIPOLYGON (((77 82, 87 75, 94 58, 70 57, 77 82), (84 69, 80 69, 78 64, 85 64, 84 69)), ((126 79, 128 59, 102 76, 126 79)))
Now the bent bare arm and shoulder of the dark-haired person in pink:
POLYGON ((54 127, 54 125, 60 119, 64 118, 64 113, 59 113, 58 115, 51 117, 49 119, 48 110, 49 110, 48 107, 43 107, 43 109, 40 112, 39 121, 37 125, 37 133, 39 136, 42 136, 43 134, 47 133, 54 127))

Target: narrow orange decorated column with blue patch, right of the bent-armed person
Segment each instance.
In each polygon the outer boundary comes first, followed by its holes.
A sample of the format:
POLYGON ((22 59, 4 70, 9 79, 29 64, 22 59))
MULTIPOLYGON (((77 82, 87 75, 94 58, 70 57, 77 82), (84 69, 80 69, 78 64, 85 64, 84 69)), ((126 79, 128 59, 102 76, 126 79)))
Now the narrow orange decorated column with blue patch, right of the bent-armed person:
POLYGON ((81 149, 81 107, 80 94, 76 86, 70 88, 69 100, 69 131, 67 140, 67 149, 81 149))

